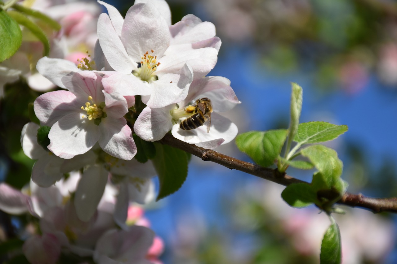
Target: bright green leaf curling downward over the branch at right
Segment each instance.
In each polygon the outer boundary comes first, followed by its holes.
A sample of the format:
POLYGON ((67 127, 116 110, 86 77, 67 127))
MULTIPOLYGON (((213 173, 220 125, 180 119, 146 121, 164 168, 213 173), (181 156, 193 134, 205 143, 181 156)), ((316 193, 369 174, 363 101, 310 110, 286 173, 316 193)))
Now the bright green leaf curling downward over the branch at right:
POLYGON ((313 176, 312 184, 314 184, 315 176, 321 177, 321 180, 319 180, 321 184, 316 188, 331 189, 339 182, 343 164, 335 150, 324 145, 311 145, 302 149, 301 153, 304 157, 308 157, 320 172, 313 176))

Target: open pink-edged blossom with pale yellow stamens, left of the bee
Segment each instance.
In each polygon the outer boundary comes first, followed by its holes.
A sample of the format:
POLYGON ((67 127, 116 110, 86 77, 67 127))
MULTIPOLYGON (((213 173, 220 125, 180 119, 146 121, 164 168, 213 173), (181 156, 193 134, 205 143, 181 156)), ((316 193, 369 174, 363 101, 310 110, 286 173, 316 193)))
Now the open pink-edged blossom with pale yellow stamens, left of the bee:
POLYGON ((137 149, 131 128, 123 118, 127 101, 117 93, 102 90, 102 77, 81 71, 63 78, 70 91, 39 96, 34 109, 41 124, 50 126, 48 149, 64 159, 91 149, 96 142, 110 155, 130 160, 137 149))

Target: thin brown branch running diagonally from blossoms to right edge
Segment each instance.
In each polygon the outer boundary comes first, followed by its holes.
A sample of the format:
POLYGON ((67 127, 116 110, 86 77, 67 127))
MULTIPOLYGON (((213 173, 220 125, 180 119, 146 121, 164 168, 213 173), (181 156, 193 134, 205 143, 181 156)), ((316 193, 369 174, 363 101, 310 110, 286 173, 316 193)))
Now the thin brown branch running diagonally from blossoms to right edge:
MULTIPOLYGON (((204 149, 202 147, 197 147, 181 140, 174 138, 171 134, 166 134, 161 143, 182 149, 188 153, 191 153, 203 161, 212 161, 218 163, 226 168, 240 170, 248 174, 252 174, 259 178, 269 180, 281 184, 283 186, 288 186, 293 183, 304 182, 302 180, 293 178, 285 173, 280 173, 278 170, 264 168, 249 162, 241 161, 229 157, 227 155, 216 152, 212 149, 204 149)), ((343 197, 337 201, 341 205, 347 205, 350 207, 362 207, 371 210, 374 213, 378 212, 397 212, 397 198, 372 198, 365 197, 362 194, 352 194, 345 193, 343 197)))

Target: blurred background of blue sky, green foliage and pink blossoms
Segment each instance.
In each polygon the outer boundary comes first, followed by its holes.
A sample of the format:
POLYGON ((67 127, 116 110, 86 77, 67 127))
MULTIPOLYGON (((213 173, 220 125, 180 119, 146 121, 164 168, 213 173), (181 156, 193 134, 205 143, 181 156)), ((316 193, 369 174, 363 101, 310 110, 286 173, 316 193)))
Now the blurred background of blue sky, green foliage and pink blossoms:
MULTIPOLYGON (((133 3, 106 2, 123 15, 133 3)), ((397 196, 395 1, 168 3, 173 23, 193 13, 216 26, 222 47, 210 75, 231 80, 242 103, 224 115, 239 132, 287 128, 291 82, 297 82, 303 87, 301 122, 349 126, 347 133, 328 143, 343 161, 348 191, 397 196)), ((8 107, 18 111, 19 106, 8 107)), ((10 141, 18 140, 18 134, 10 136, 10 141)), ((250 161, 234 143, 216 150, 250 161)), ((22 153, 14 154, 14 161, 22 160, 22 153)), ((25 176, 7 181, 25 184, 32 164, 11 168, 15 176, 25 176)), ((312 171, 290 168, 287 173, 309 182, 312 177, 312 171)), ((192 157, 182 188, 145 207, 151 228, 165 242, 160 259, 165 264, 318 263, 328 217, 315 207, 290 208, 281 199, 282 190, 283 186, 192 157)), ((397 263, 396 216, 343 209, 347 213, 336 216, 343 263, 397 263)))

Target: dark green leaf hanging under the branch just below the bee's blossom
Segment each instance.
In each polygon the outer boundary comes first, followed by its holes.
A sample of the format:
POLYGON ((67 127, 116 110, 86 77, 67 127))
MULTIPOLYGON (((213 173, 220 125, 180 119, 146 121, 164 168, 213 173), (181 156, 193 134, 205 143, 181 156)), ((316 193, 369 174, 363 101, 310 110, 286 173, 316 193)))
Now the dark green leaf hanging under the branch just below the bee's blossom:
POLYGON ((156 201, 177 191, 187 177, 187 155, 185 151, 154 143, 156 157, 152 159, 160 181, 156 201))

